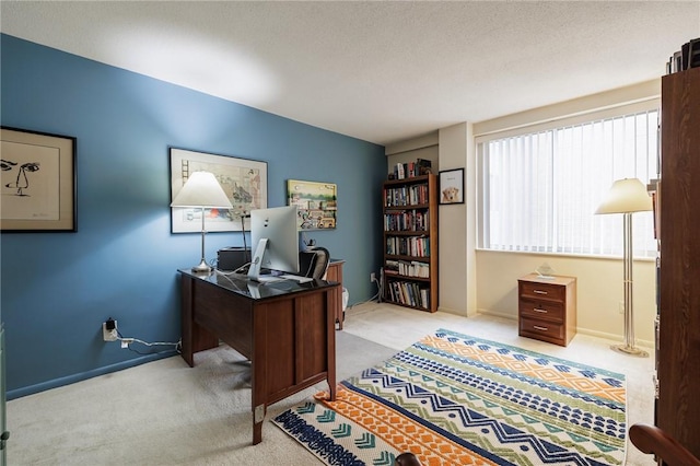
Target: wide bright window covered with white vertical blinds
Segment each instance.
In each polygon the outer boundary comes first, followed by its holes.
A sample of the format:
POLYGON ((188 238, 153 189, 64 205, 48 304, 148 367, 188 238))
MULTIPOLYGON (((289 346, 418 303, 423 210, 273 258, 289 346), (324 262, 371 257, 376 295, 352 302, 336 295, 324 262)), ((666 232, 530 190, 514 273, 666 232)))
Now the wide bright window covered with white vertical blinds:
MULTIPOLYGON (((479 247, 621 256, 622 214, 594 212, 614 180, 656 177, 658 110, 617 114, 478 139, 479 247)), ((632 223, 634 256, 655 257, 652 212, 632 223)))

